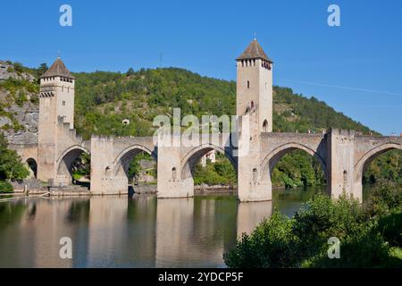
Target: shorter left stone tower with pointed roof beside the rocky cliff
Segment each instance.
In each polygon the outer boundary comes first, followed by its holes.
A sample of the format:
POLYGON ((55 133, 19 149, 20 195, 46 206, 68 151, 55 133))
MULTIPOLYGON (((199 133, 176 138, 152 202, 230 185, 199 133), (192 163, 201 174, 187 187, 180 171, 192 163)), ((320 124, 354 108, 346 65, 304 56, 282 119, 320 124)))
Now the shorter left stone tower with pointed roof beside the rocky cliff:
POLYGON ((38 180, 56 177, 58 124, 74 125, 74 77, 58 57, 40 77, 38 180), (60 119, 63 119, 60 121, 60 119))

